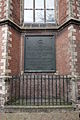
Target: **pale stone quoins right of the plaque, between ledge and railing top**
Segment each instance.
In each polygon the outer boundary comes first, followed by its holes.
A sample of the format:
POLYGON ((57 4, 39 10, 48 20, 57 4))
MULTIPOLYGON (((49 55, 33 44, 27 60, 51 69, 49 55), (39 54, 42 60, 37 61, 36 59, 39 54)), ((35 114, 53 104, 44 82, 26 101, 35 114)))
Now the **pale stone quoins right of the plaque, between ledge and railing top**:
POLYGON ((76 71, 76 62, 77 62, 77 51, 76 51, 76 29, 74 25, 68 27, 68 39, 69 39, 69 55, 70 55, 70 72, 73 77, 78 75, 76 71))

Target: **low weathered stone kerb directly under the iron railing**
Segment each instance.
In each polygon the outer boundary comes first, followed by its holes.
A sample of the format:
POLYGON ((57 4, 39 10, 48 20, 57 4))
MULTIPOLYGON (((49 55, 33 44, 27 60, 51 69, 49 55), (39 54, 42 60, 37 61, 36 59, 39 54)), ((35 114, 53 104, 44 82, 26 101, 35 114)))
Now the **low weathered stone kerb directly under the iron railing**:
POLYGON ((44 112, 44 113, 51 113, 51 112, 67 112, 67 111, 74 111, 73 107, 70 105, 66 106, 5 106, 4 112, 5 113, 23 113, 23 112, 44 112))

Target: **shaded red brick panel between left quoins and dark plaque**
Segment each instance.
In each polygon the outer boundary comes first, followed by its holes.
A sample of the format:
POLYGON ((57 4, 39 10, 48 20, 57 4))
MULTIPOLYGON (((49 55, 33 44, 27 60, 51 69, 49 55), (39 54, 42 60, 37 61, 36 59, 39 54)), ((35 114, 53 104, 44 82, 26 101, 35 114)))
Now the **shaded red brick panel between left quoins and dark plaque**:
POLYGON ((20 56, 21 56, 21 35, 20 32, 16 31, 12 27, 9 27, 10 39, 9 42, 11 46, 9 47, 9 56, 11 59, 9 62, 9 69, 11 70, 11 75, 17 75, 20 73, 20 56))

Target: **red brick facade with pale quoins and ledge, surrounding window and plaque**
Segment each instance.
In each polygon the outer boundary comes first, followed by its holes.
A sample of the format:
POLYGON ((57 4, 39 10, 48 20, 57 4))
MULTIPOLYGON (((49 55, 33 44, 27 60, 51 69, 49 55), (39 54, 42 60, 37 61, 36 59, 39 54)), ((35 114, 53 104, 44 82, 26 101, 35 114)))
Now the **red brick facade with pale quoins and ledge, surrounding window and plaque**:
MULTIPOLYGON (((39 34, 55 35, 56 74, 71 75, 79 79, 79 0, 73 0, 73 2, 59 0, 56 9, 58 25, 53 27, 21 26, 22 10, 21 0, 0 0, 0 76, 18 75, 24 72, 24 37, 39 34)), ((1 85, 2 82, 0 87, 1 85)))

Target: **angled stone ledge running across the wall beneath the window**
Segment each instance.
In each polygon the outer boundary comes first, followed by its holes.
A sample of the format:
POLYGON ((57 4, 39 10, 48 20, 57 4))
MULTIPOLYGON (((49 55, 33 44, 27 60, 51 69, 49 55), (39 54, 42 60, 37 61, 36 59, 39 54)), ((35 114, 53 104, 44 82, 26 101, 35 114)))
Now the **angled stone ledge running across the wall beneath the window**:
POLYGON ((39 27, 34 26, 34 27, 30 27, 30 26, 22 26, 22 25, 17 25, 14 21, 12 21, 11 19, 2 19, 0 20, 0 25, 5 25, 8 24, 9 26, 12 26, 13 28, 15 28, 16 30, 18 30, 19 32, 23 33, 27 30, 55 30, 55 31, 60 31, 62 29, 64 29, 66 26, 70 25, 70 24, 76 24, 76 25, 80 25, 80 20, 75 19, 73 17, 70 17, 67 21, 65 21, 63 24, 61 25, 57 25, 57 24, 49 24, 49 25, 45 25, 45 27, 43 27, 43 25, 39 25, 39 27))

